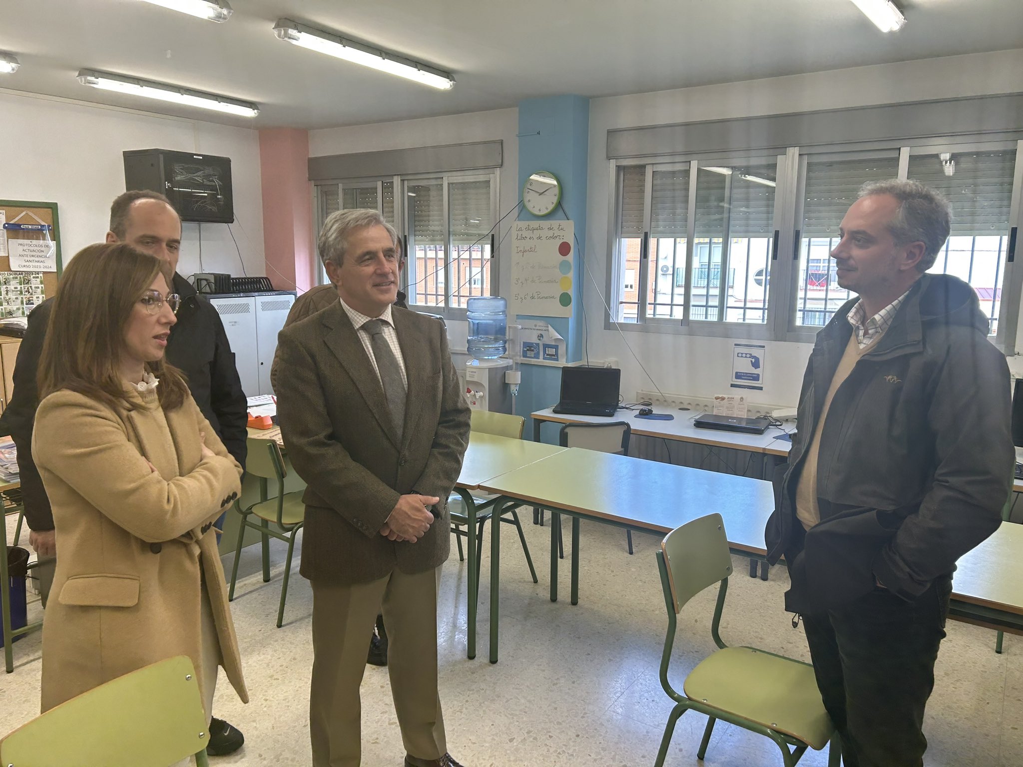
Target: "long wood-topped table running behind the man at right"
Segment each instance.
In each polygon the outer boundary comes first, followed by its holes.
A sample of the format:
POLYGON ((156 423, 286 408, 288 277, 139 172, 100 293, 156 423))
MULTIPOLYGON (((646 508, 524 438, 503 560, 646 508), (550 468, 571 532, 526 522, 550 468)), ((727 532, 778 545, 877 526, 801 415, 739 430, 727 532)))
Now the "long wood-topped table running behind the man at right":
MULTIPOLYGON (((766 555, 764 526, 774 506, 769 483, 611 453, 569 448, 481 484, 506 505, 534 504, 572 518, 572 603, 579 597, 579 520, 666 534, 705 514, 724 518, 729 548, 766 555), (571 477, 572 482, 565 478, 571 477), (674 506, 667 507, 665 499, 674 506)), ((499 531, 491 532, 490 662, 497 663, 499 531)), ((1023 634, 1023 526, 1004 524, 959 562, 949 615, 1023 634)), ((558 598, 557 530, 551 526, 550 598, 558 598)))

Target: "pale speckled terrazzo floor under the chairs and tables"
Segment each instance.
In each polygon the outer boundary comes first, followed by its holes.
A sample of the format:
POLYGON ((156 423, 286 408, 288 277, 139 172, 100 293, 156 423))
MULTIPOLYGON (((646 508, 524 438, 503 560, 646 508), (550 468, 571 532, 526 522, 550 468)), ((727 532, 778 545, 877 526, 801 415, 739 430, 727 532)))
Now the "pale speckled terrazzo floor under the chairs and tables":
MULTIPOLYGON (((522 514, 523 521, 531 514, 522 514)), ((7 518, 8 541, 14 517, 7 518)), ((635 553, 621 530, 582 524, 580 603, 568 602, 568 560, 561 571, 562 599, 548 598, 549 528, 525 525, 540 582, 529 578, 517 536, 501 540, 500 663, 486 660, 488 597, 484 555, 479 656, 465 659, 465 562, 454 545, 444 567, 440 601, 440 685, 448 743, 466 767, 622 767, 651 765, 670 701, 658 671, 666 625, 654 556, 658 539, 634 533, 635 553)), ((488 530, 489 534, 489 530, 488 530)), ((489 539, 488 539, 489 540, 489 539)), ((23 539, 24 542, 24 539, 23 539)), ((280 629, 274 621, 285 548, 271 543, 272 579, 259 574, 258 547, 242 553, 232 603, 252 696, 240 704, 230 686, 218 687, 214 711, 239 729, 243 749, 211 760, 227 765, 308 765, 307 701, 312 664, 312 593, 292 579, 280 629)), ((224 559, 229 571, 231 556, 224 559)), ((295 565, 298 570, 298 563, 295 565)), ((782 608, 788 575, 771 570, 767 583, 748 578, 736 558, 722 620, 722 638, 793 658, 808 659, 802 629, 782 608)), ((670 675, 685 672, 713 648, 714 594, 705 592, 682 612, 670 675)), ((41 610, 30 604, 30 620, 41 610)), ((925 732, 925 764, 937 767, 1023 765, 1023 638, 1007 636, 993 651, 994 633, 950 621, 937 664, 925 732)), ((0 674, 0 733, 38 712, 40 634, 17 642, 13 674, 0 674)), ((404 751, 387 671, 367 667, 362 683, 363 765, 399 767, 404 751)), ((678 722, 666 762, 698 765, 706 720, 694 713, 678 722)), ((808 752, 801 765, 827 765, 827 752, 808 752)), ((781 765, 775 747, 758 735, 719 723, 707 767, 781 765)))

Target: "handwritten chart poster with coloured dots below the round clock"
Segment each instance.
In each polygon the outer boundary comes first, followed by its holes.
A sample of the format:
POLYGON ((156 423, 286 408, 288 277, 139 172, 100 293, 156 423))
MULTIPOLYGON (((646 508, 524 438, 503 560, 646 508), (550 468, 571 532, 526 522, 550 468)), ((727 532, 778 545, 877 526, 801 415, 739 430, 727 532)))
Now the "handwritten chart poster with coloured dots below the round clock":
POLYGON ((571 221, 517 221, 511 254, 511 302, 516 314, 572 316, 571 221))

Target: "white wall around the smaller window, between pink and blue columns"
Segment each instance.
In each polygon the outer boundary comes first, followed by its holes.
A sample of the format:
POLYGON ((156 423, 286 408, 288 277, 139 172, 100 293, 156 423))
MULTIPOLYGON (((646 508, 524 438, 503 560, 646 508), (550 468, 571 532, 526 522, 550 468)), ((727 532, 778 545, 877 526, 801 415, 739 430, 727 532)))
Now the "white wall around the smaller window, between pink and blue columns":
MULTIPOLYGON (((466 115, 449 115, 421 120, 405 120, 347 128, 309 131, 309 156, 347 154, 381 149, 408 149, 414 146, 438 146, 472 141, 503 141, 504 164, 498 173, 498 218, 518 202, 519 194, 519 109, 493 109, 466 115)), ((508 216, 497 232, 498 240, 515 222, 508 216)), ((505 240, 507 242, 508 240, 505 240)), ((507 249, 509 250, 509 249, 507 249)), ((498 258, 497 284, 500 291, 511 283, 511 264, 498 258)), ((464 337, 461 341, 464 348, 464 337)))

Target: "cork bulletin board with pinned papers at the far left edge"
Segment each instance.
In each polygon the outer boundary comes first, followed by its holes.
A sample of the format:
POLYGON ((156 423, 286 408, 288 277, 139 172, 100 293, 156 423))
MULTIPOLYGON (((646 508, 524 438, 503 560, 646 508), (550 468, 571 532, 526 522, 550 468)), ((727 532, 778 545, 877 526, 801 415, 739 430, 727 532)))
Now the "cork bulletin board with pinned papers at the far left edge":
POLYGON ((0 199, 0 318, 27 317, 61 270, 57 204, 0 199))

